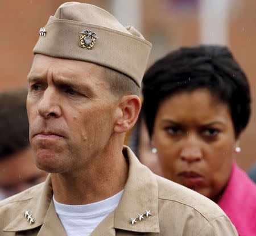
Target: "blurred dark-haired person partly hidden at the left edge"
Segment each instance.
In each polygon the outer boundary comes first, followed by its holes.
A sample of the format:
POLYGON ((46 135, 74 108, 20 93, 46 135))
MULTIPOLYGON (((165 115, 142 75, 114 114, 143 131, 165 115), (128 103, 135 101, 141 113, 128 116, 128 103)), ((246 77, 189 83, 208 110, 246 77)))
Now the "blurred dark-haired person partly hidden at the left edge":
POLYGON ((28 138, 27 88, 0 94, 0 199, 43 182, 28 138))

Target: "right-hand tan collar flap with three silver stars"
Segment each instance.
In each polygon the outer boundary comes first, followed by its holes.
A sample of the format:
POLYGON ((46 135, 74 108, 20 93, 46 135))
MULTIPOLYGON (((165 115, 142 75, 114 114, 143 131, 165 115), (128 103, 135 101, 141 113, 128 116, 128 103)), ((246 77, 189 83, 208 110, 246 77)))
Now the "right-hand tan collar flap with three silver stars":
POLYGON ((144 233, 159 233, 158 222, 158 184, 154 174, 143 166, 135 157, 129 147, 123 148, 123 155, 129 161, 129 176, 123 195, 114 212, 114 227, 116 229, 130 230, 144 233), (134 224, 131 218, 149 211, 151 215, 134 224))

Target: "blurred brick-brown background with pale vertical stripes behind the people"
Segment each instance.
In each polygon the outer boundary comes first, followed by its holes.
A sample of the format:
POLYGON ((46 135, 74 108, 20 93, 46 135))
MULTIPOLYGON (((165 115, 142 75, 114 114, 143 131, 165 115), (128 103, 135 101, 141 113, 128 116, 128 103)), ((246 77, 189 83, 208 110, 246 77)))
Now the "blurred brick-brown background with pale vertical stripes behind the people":
MULTIPOLYGON (((0 91, 27 83, 32 49, 49 15, 66 1, 0 1, 0 91)), ((92 0, 122 24, 134 25, 153 44, 149 64, 185 45, 227 45, 246 71, 253 114, 241 136, 238 165, 247 170, 256 161, 256 1, 252 0, 92 0)))

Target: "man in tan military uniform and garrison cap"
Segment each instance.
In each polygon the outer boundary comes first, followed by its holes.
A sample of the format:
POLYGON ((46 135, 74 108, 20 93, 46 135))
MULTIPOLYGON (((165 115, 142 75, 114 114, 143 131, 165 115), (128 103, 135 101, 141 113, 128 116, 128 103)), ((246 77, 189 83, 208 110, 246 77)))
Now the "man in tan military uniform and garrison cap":
POLYGON ((51 174, 0 202, 0 235, 237 235, 216 204, 123 147, 151 48, 141 33, 72 2, 39 34, 27 111, 36 165, 51 174))

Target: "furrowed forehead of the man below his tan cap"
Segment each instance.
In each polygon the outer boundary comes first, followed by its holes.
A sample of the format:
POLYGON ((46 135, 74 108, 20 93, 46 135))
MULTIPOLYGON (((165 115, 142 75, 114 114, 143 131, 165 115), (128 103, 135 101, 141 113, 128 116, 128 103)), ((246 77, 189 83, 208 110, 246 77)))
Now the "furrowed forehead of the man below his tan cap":
POLYGON ((53 83, 57 87, 70 86, 96 98, 98 92, 110 89, 103 66, 85 61, 51 58, 39 55, 28 74, 28 82, 53 83), (97 92, 98 91, 98 92, 97 92))

